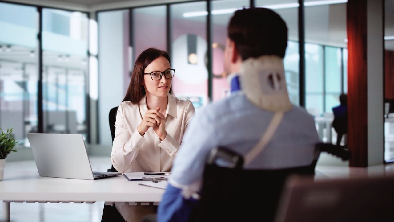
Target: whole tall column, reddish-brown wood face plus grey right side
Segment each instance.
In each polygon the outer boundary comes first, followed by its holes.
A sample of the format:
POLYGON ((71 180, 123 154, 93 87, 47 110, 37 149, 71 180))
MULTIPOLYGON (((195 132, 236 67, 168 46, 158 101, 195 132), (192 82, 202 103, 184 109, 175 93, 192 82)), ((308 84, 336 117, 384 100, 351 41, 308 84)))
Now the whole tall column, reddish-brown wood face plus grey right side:
POLYGON ((381 0, 347 3, 350 166, 383 163, 382 9, 381 0))

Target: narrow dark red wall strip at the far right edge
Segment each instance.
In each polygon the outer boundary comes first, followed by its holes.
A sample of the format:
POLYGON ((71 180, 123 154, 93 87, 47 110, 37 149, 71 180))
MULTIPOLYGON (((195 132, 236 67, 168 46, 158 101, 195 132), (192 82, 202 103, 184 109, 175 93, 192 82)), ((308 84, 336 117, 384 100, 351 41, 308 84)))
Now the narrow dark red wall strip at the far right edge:
POLYGON ((385 99, 394 99, 394 51, 385 51, 385 99))

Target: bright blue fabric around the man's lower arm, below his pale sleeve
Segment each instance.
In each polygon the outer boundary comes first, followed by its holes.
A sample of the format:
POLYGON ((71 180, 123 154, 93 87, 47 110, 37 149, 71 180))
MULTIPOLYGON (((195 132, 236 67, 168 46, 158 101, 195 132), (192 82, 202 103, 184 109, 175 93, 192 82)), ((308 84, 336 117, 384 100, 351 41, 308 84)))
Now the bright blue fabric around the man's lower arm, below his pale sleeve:
POLYGON ((186 200, 180 192, 181 189, 168 184, 158 207, 158 222, 188 221, 190 213, 198 201, 193 198, 186 200))

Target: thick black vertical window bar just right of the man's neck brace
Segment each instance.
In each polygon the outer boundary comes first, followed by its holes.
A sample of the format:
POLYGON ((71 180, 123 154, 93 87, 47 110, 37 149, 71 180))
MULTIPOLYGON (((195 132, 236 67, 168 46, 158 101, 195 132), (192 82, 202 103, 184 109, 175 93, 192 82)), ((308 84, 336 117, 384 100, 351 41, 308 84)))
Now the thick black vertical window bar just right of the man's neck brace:
POLYGON ((299 105, 305 107, 305 23, 304 1, 298 0, 299 105))

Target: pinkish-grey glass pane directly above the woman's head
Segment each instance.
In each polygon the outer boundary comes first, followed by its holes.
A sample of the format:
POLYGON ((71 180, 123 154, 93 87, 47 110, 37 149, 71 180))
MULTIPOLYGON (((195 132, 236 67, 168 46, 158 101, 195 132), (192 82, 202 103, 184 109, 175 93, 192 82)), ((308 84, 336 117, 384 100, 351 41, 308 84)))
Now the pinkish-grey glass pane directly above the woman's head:
POLYGON ((132 11, 133 21, 133 64, 145 49, 154 47, 167 51, 166 7, 153 6, 136 8, 132 11))

